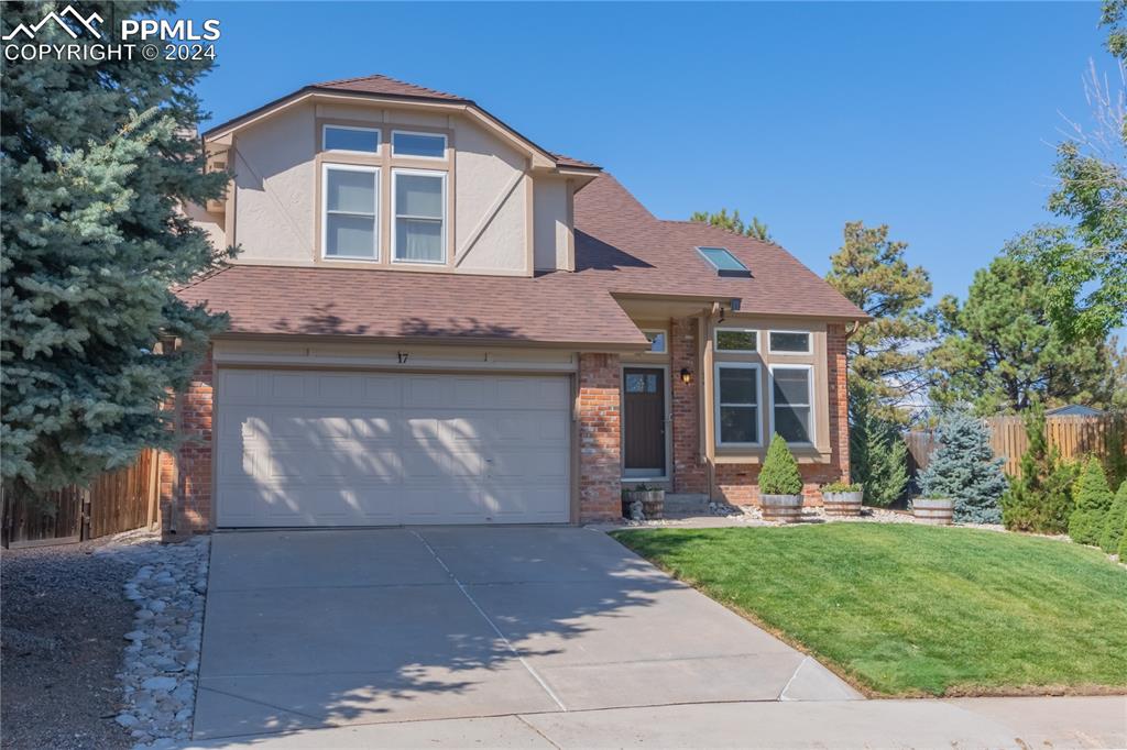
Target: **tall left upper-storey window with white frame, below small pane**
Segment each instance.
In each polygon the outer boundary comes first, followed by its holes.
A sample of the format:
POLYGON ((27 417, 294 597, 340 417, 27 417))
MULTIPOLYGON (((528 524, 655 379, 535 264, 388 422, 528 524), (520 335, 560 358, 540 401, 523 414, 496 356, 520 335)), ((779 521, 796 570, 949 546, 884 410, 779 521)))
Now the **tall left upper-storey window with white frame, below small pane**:
POLYGON ((321 185, 325 257, 379 260, 380 169, 325 164, 321 185))

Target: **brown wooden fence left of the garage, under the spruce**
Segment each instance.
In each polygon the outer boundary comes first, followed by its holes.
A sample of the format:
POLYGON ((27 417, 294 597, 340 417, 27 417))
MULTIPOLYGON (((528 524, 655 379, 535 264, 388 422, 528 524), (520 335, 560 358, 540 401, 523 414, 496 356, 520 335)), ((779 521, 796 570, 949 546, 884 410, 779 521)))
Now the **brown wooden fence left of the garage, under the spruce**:
POLYGON ((142 450, 132 466, 107 472, 88 488, 66 486, 38 499, 3 497, 3 546, 69 544, 157 521, 159 454, 142 450))

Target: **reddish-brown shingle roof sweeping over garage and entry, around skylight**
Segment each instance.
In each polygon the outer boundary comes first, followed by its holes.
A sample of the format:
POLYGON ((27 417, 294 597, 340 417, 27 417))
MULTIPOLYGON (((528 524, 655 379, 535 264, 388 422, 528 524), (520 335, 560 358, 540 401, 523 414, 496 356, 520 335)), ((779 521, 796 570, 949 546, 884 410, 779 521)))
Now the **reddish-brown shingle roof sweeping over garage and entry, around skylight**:
POLYGON ((576 271, 533 278, 236 265, 178 292, 231 315, 232 333, 334 334, 644 347, 613 294, 738 297, 744 312, 863 319, 782 248, 656 218, 609 175, 576 195, 576 271), (698 245, 752 278, 722 278, 698 245))

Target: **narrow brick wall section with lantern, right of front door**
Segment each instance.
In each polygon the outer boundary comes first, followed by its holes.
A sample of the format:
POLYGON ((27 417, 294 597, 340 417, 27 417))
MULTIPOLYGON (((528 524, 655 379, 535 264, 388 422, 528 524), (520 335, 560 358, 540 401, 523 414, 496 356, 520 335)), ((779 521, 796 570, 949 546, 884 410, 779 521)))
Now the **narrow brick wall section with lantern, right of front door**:
POLYGON ((708 472, 700 458, 701 378, 706 377, 696 363, 698 331, 695 318, 675 319, 669 327, 669 378, 673 402, 669 416, 673 430, 673 491, 708 492, 708 472), (693 374, 693 382, 681 382, 681 370, 693 374))

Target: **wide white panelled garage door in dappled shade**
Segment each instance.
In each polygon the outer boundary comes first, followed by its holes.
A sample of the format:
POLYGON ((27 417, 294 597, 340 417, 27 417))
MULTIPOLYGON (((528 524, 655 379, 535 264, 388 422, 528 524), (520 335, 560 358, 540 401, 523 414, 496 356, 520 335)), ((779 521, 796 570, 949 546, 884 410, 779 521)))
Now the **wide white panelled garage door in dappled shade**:
POLYGON ((221 369, 219 526, 566 523, 567 376, 221 369))

